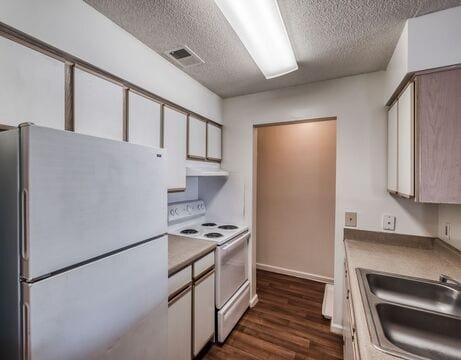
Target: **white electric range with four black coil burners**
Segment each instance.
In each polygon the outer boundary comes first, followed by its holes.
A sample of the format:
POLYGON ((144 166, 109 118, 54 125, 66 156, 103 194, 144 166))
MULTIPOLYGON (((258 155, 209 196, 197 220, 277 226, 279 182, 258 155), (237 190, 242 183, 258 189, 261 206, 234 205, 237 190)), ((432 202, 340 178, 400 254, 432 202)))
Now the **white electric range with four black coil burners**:
POLYGON ((250 303, 248 227, 206 217, 202 200, 168 205, 168 233, 215 241, 216 339, 224 342, 250 303))

